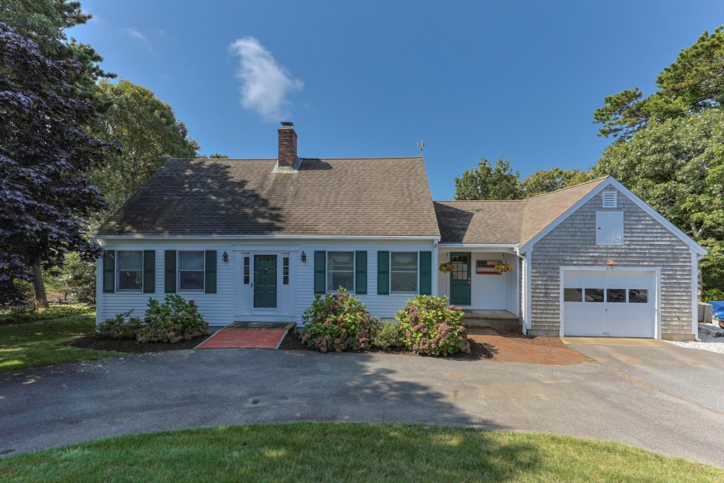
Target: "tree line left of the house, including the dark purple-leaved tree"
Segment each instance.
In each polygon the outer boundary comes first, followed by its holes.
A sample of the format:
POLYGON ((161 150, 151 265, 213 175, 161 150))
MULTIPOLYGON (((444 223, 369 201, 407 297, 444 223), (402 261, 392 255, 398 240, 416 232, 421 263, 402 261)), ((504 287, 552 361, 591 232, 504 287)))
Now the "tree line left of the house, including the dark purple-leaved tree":
MULTIPOLYGON (((172 106, 67 37, 75 0, 0 0, 0 304, 45 283, 95 299, 90 232, 171 157, 194 158, 172 106)), ((220 154, 215 157, 225 157, 220 154)))

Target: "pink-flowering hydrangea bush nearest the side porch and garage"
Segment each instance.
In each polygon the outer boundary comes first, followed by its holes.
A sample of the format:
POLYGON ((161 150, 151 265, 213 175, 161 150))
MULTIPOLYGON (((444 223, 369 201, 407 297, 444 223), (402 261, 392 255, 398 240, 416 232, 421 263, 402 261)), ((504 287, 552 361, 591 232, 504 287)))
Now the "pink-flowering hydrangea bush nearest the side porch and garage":
POLYGON ((395 317, 405 333, 405 345, 428 356, 470 352, 462 308, 447 306, 447 297, 418 295, 395 317))

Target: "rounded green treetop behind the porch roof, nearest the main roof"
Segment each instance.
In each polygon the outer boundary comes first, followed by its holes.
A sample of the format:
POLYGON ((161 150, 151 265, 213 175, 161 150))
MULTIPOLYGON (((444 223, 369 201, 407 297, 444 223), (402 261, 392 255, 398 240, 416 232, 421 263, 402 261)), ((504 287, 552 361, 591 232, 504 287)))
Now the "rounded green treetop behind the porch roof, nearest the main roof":
POLYGON ((523 198, 520 173, 510 169, 510 161, 502 156, 495 161, 495 167, 485 158, 478 166, 466 169, 455 177, 456 200, 518 200, 523 198))

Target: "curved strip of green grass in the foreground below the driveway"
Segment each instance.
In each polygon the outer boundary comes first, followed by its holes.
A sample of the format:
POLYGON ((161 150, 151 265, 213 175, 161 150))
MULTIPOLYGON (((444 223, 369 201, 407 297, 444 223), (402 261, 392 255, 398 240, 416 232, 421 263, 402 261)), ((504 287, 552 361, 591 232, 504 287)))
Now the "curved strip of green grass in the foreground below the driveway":
POLYGON ((408 424, 292 423, 113 437, 0 459, 4 482, 714 482, 613 442, 408 424))

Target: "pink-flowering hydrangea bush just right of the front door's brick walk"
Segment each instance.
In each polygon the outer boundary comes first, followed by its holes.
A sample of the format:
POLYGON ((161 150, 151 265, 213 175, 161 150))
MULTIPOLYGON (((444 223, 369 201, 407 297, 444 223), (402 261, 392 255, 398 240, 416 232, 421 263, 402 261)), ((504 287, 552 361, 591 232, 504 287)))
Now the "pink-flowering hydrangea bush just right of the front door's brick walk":
POLYGON ((314 295, 303 316, 302 342, 320 352, 369 349, 372 323, 359 298, 340 293, 314 295))

